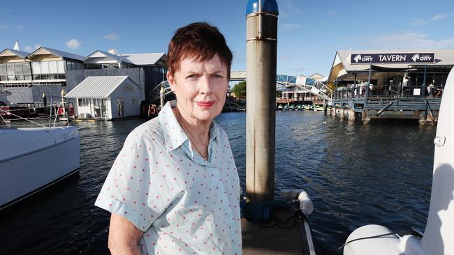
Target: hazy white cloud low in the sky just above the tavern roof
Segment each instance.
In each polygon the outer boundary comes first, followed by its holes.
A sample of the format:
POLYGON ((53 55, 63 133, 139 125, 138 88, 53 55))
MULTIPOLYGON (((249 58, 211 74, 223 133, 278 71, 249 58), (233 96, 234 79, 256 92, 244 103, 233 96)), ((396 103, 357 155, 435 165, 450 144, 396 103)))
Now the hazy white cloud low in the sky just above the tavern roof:
POLYGON ((366 44, 375 49, 453 49, 454 38, 432 40, 425 33, 393 33, 373 36, 366 44))

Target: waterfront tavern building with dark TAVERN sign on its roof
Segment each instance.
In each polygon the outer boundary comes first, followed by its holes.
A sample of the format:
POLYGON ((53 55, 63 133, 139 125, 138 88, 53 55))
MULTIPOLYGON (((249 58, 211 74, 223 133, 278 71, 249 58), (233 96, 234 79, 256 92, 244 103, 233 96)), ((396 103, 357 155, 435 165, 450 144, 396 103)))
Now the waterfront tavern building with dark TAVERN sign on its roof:
POLYGON ((404 95, 427 95, 430 84, 444 88, 453 66, 454 50, 339 50, 328 82, 336 90, 357 87, 369 81, 370 69, 371 96, 399 88, 404 95))

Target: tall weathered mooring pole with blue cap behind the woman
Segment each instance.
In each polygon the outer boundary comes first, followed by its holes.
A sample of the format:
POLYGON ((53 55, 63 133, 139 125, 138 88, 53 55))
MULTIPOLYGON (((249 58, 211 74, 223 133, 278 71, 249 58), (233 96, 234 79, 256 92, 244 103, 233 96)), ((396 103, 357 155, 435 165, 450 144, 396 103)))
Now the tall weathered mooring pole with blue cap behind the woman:
POLYGON ((246 197, 272 200, 276 110, 277 15, 275 0, 249 1, 246 16, 246 197))

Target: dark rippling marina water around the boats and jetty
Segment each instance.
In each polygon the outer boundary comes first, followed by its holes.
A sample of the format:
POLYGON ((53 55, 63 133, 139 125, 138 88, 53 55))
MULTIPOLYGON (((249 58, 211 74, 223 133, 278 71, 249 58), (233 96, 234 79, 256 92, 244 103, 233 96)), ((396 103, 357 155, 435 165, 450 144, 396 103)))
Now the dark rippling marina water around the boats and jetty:
MULTIPOLYGON (((237 112, 216 119, 230 138, 243 190, 245 117, 237 112)), ((309 222, 326 249, 341 246, 365 224, 400 234, 411 227, 424 231, 436 127, 362 125, 313 111, 278 111, 276 118, 275 190, 302 188, 312 196, 309 222)), ((110 215, 94 200, 126 136, 141 123, 75 124, 81 135, 80 177, 0 212, 0 254, 107 254, 110 215)), ((342 254, 342 249, 316 249, 342 254)))

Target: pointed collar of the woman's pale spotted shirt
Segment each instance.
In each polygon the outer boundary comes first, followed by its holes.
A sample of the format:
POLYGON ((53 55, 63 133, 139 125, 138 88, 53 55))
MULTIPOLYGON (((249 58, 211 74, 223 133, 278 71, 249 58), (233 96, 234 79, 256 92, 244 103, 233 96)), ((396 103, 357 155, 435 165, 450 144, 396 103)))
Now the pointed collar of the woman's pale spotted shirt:
MULTIPOLYGON (((186 133, 184 133, 180 123, 178 123, 175 114, 173 114, 173 107, 177 106, 177 100, 168 101, 163 109, 159 111, 158 118, 159 124, 163 130, 164 141, 168 151, 175 150, 180 147, 184 141, 188 140, 186 133)), ((210 143, 219 137, 219 126, 212 121, 210 125, 210 143)))

